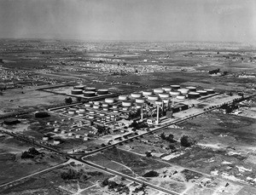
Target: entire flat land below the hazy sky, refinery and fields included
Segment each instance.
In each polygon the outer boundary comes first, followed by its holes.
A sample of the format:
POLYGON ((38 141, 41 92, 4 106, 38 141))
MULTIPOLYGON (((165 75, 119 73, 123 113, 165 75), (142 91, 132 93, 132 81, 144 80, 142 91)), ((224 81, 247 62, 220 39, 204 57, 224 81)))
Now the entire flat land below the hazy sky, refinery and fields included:
POLYGON ((253 49, 5 42, 1 194, 254 194, 253 49))

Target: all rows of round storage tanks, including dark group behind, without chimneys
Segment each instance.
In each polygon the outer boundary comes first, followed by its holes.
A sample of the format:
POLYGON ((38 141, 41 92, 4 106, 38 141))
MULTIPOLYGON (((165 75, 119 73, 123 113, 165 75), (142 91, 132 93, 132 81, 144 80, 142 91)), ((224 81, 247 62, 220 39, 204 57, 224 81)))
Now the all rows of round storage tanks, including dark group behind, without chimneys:
MULTIPOLYGON (((84 86, 75 86, 73 91, 79 90, 84 96, 108 94, 108 89, 84 88, 84 86)), ((116 120, 122 116, 122 111, 128 111, 131 107, 141 108, 147 102, 154 105, 168 105, 170 100, 196 99, 205 95, 214 94, 213 89, 198 90, 195 87, 181 88, 180 85, 171 85, 168 87, 134 92, 131 95, 119 95, 118 98, 105 98, 101 101, 84 103, 81 108, 70 108, 67 110, 68 115, 78 115, 97 122, 108 122, 116 120), (100 112, 102 111, 102 112, 100 112), (109 113, 108 113, 109 112, 109 113), (111 112, 111 113, 110 113, 111 112)))

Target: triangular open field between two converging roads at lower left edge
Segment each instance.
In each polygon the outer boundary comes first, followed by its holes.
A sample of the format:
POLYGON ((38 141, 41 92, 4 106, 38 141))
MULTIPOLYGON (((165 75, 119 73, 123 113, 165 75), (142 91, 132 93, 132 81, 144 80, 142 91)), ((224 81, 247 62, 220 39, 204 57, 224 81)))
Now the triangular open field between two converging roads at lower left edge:
POLYGON ((35 158, 21 158, 22 152, 28 151, 32 146, 9 136, 0 139, 0 185, 65 162, 64 158, 38 148, 42 153, 35 158))

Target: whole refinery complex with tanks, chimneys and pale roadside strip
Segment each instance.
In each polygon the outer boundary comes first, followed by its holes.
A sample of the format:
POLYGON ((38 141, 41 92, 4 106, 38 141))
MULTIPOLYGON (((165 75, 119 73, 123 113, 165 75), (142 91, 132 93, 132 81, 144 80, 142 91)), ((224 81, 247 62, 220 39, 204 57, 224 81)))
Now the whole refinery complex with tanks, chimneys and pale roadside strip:
MULTIPOLYGON (((57 113, 66 118, 80 121, 75 129, 55 129, 53 137, 90 140, 101 134, 112 135, 104 144, 108 145, 143 134, 130 128, 132 123, 143 123, 146 132, 162 126, 172 125, 183 118, 193 118, 207 110, 217 109, 224 104, 243 100, 240 95, 226 95, 214 89, 201 89, 194 86, 170 85, 156 89, 145 89, 131 94, 115 94, 109 89, 96 89, 84 85, 74 86, 71 93, 79 91, 86 98, 70 106, 50 108, 49 112, 57 113), (104 93, 102 93, 102 91, 104 93), (111 95, 106 97, 105 95, 111 95), (203 104, 204 106, 200 106, 203 104), (83 127, 93 127, 90 132, 83 127), (124 130, 124 127, 126 128, 124 130), (82 129, 82 130, 81 130, 82 129), (135 134, 136 133, 136 134, 135 134)), ((45 135, 49 137, 50 135, 45 135)), ((43 138, 43 140, 46 138, 43 138)), ((64 141, 64 140, 63 140, 64 141)))

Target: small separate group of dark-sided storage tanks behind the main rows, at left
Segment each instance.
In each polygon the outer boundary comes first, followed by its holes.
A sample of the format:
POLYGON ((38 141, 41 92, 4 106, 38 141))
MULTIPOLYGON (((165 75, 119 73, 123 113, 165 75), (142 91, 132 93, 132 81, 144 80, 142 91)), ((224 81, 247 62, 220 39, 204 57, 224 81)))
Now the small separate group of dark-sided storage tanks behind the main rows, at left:
POLYGON ((84 97, 94 97, 96 95, 108 95, 108 89, 96 89, 85 87, 84 85, 74 86, 71 90, 72 95, 83 95, 84 97))

